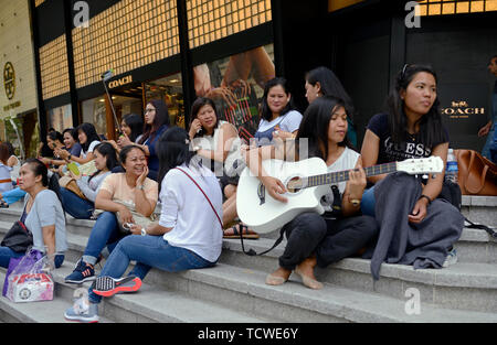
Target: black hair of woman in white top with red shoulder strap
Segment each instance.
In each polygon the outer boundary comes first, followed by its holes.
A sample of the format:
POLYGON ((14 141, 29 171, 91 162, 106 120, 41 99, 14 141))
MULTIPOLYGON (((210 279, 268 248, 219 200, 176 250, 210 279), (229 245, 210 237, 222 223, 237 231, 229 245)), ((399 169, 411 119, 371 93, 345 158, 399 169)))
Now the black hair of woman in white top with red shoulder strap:
POLYGON ((157 142, 157 155, 159 158, 159 192, 163 177, 169 170, 183 163, 190 165, 192 157, 188 132, 180 127, 171 127, 160 136, 157 142))

